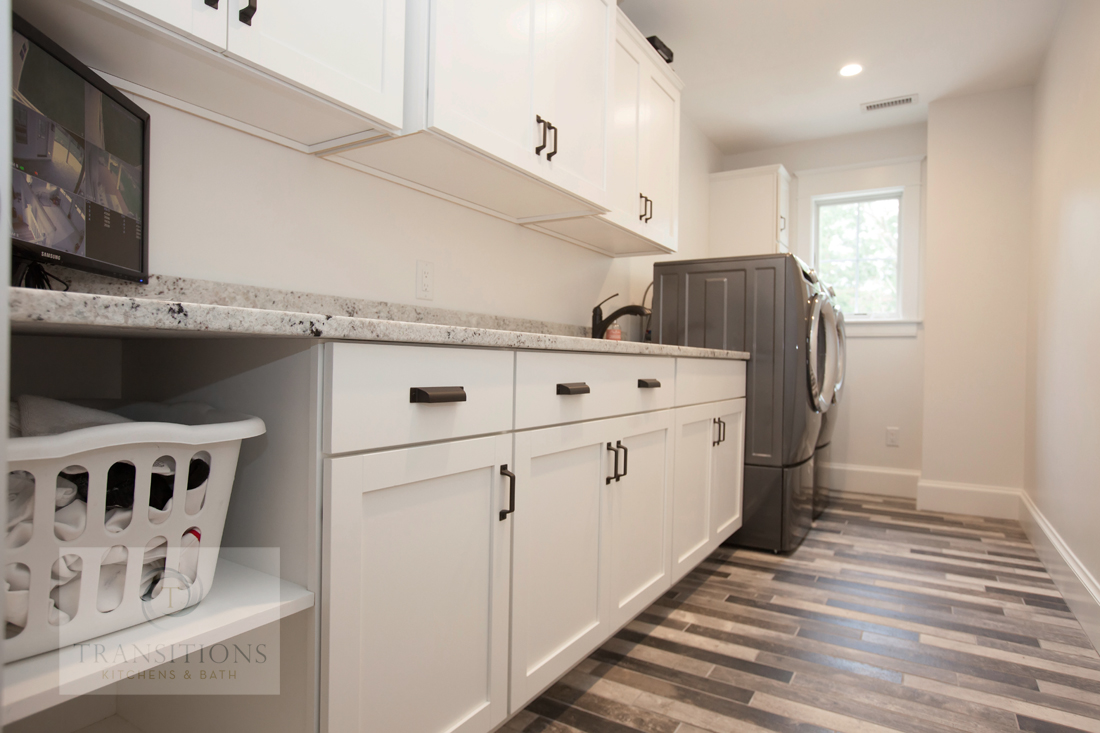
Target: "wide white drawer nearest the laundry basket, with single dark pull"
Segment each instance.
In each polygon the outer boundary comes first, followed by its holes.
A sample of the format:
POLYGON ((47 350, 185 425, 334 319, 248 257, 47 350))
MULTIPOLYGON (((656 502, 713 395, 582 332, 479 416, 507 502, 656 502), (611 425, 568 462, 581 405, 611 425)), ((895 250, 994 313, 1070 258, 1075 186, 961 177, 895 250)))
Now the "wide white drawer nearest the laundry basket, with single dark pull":
POLYGON ((512 429, 510 351, 329 343, 324 355, 327 453, 512 429), (465 401, 438 387, 462 387, 465 401), (415 389, 440 402, 413 402, 415 389))

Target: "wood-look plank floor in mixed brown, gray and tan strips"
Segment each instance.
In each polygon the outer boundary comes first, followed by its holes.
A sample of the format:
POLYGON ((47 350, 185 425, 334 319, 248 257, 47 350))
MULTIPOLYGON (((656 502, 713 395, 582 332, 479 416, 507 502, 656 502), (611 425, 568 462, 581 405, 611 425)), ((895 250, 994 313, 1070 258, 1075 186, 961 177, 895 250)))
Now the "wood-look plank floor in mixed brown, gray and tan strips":
POLYGON ((836 494, 719 547, 503 729, 1100 733, 1100 656, 1019 523, 836 494))

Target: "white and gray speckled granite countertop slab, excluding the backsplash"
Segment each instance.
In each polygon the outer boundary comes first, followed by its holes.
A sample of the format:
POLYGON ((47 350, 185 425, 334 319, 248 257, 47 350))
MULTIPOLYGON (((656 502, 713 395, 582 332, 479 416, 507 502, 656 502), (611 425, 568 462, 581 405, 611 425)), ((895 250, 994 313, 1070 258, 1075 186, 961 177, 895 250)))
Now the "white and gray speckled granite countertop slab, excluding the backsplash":
POLYGON ((15 332, 106 332, 140 335, 175 331, 195 336, 267 336, 399 343, 437 343, 502 349, 592 351, 704 359, 747 359, 737 351, 605 341, 554 333, 532 333, 476 326, 448 326, 352 316, 330 316, 237 305, 59 293, 13 287, 15 332))

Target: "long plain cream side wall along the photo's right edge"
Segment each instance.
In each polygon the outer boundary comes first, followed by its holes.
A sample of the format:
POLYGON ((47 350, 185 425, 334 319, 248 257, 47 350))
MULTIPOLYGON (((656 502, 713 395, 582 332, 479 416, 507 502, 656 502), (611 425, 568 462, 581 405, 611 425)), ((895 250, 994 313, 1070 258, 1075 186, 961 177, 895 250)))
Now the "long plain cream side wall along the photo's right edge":
MULTIPOLYGON (((1024 486, 1076 556, 1100 638, 1100 3, 1067 6, 1036 89, 1024 486)), ((1063 588, 1066 591, 1066 588, 1063 588)), ((1074 598, 1067 593, 1070 603, 1074 598)))

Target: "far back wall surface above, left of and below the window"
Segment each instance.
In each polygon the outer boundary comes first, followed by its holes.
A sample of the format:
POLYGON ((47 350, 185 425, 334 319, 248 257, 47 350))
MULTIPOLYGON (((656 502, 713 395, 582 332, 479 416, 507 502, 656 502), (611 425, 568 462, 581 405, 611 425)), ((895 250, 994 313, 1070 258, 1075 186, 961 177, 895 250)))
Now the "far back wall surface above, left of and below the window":
MULTIPOLYGON (((921 157, 926 127, 913 124, 727 155, 723 171, 782 163, 791 182, 791 242, 799 241, 798 174, 828 167, 921 157)), ((801 254, 804 256, 804 253, 801 254)), ((822 457, 825 481, 836 489, 915 496, 921 469, 923 333, 849 338, 847 386, 833 442, 822 457), (888 448, 886 428, 901 445, 888 448)))

